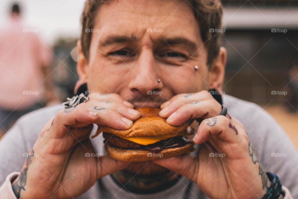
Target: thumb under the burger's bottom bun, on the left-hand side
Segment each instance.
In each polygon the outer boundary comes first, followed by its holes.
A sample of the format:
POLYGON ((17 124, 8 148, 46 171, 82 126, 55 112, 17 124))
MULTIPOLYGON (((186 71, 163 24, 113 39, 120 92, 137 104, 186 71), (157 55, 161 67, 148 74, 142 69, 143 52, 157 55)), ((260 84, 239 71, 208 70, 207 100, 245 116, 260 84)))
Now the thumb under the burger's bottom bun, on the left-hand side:
POLYGON ((131 162, 114 160, 108 155, 97 158, 97 179, 116 171, 125 169, 131 162))

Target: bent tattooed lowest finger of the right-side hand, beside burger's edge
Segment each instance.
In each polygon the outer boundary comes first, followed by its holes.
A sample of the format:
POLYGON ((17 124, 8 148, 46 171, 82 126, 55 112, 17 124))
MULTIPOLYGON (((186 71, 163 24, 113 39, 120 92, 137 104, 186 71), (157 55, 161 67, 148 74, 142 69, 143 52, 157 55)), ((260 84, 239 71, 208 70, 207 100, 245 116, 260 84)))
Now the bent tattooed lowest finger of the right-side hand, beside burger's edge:
MULTIPOLYGON (((236 124, 236 123, 235 123, 236 124)), ((223 115, 208 118, 202 121, 196 135, 193 137, 195 144, 201 144, 209 139, 210 136, 216 135, 220 139, 229 143, 237 142, 239 126, 232 124, 229 119, 223 115)), ((232 143, 233 144, 233 143, 232 143)))

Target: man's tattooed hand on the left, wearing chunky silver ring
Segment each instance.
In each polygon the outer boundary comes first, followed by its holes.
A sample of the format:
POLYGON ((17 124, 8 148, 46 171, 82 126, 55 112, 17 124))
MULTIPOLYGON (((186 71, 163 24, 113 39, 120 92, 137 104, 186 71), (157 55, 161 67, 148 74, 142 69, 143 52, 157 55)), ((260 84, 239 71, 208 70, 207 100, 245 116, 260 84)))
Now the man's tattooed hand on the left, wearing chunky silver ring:
POLYGON ((45 124, 21 174, 12 183, 17 198, 72 198, 97 179, 130 163, 95 154, 89 139, 93 123, 128 129, 140 117, 116 94, 90 95, 86 103, 60 110, 45 124), (87 153, 87 155, 85 155, 87 153), (99 156, 99 157, 98 157, 99 156))

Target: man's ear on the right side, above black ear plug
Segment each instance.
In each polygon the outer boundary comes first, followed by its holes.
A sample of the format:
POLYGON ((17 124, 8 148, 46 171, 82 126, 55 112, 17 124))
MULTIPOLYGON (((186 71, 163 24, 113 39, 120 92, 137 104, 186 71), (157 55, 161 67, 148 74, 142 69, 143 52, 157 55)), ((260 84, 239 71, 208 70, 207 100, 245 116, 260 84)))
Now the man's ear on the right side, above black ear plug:
POLYGON ((208 84, 210 85, 210 89, 215 88, 219 92, 223 91, 224 68, 226 61, 227 51, 224 47, 220 47, 219 55, 214 59, 208 73, 208 84))

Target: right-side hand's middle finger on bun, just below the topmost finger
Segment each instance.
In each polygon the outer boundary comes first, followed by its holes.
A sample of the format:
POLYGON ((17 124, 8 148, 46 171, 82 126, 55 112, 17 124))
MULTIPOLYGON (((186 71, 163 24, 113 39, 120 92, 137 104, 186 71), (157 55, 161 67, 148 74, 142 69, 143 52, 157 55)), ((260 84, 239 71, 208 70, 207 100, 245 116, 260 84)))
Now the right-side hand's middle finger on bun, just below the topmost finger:
POLYGON ((221 105, 215 99, 184 104, 167 118, 167 123, 178 126, 192 118, 210 118, 219 115, 221 105))

